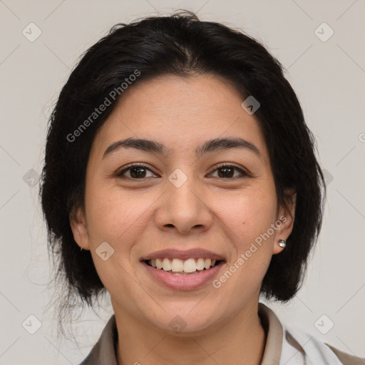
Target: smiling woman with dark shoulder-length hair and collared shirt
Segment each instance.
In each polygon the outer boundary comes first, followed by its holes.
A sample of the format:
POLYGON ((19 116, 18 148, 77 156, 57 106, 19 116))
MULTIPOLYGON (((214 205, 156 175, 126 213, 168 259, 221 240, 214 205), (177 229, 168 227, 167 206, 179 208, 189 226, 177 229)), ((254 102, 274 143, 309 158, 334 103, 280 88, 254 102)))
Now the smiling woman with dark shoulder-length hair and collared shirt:
POLYGON ((356 364, 259 295, 297 293, 322 222, 314 140, 282 66, 185 12, 118 24, 50 121, 41 200, 68 295, 110 294, 82 364, 356 364))

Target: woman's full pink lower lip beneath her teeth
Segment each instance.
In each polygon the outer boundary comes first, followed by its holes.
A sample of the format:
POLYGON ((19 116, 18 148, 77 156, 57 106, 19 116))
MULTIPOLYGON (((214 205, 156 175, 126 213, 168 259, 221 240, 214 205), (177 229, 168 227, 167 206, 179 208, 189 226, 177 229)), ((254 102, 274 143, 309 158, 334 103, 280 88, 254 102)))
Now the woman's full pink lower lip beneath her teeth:
POLYGON ((148 274, 151 274, 158 282, 165 284, 166 287, 175 290, 191 290, 211 282, 224 262, 220 262, 215 267, 202 270, 197 274, 171 274, 163 271, 163 269, 155 269, 145 262, 142 262, 142 264, 147 269, 148 274))

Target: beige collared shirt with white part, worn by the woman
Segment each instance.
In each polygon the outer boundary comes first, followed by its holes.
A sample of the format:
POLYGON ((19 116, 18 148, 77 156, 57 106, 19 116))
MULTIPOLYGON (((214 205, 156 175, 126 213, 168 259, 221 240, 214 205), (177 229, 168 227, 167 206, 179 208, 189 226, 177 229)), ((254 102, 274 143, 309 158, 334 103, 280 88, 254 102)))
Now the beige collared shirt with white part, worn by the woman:
MULTIPOLYGON (((284 327, 277 316, 259 303, 259 318, 267 336, 261 365, 364 365, 365 359, 345 354, 303 332, 284 327)), ((113 315, 90 354, 80 365, 117 365, 118 331, 113 315)))

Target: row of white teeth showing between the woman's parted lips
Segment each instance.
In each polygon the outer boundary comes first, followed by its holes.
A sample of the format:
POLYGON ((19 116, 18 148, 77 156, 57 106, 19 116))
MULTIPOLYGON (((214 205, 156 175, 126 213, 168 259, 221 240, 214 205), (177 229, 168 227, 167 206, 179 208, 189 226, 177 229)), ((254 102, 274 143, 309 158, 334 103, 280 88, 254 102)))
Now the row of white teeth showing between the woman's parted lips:
POLYGON ((162 270, 163 272, 168 272, 170 274, 191 275, 199 274, 212 267, 216 267, 221 264, 223 260, 205 259, 202 257, 186 260, 161 257, 160 259, 145 259, 143 262, 154 269, 162 270))

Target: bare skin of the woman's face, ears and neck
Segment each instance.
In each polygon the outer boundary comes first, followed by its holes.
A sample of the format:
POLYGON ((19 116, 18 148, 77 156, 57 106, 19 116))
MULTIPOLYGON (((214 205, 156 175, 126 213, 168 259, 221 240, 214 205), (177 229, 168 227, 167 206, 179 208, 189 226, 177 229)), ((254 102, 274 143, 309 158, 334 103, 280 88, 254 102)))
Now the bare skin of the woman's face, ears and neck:
POLYGON ((283 250, 278 240, 292 232, 294 202, 289 212, 277 205, 267 146, 243 100, 217 76, 154 78, 123 93, 93 141, 85 210, 73 212, 70 222, 110 293, 119 365, 261 362, 266 337, 257 314, 260 285, 272 255, 283 250), (260 157, 244 148, 195 156, 206 140, 237 137, 255 145, 260 157), (170 155, 128 148, 103 158, 110 144, 125 138, 156 140, 170 155), (147 165, 144 179, 131 170, 124 179, 115 176, 130 163, 147 165), (219 163, 250 176, 230 170, 225 178, 219 163), (168 180, 177 168, 187 176, 181 187, 168 180), (211 282, 168 289, 139 261, 158 250, 199 247, 225 257, 221 275, 281 216, 287 220, 219 289, 211 282), (115 251, 103 261, 96 249, 105 241, 115 251), (169 326, 176 315, 186 322, 179 333, 169 326))

